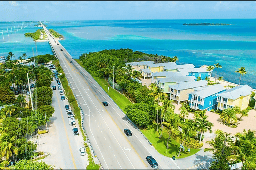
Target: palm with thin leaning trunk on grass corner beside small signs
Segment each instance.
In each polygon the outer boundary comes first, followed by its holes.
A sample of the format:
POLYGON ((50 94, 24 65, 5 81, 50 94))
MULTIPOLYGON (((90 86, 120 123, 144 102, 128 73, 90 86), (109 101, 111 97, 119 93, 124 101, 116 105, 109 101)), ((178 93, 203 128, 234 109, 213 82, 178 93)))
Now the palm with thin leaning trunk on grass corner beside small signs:
MULTIPOLYGON (((185 140, 195 140, 194 138, 192 138, 191 136, 195 136, 196 132, 192 130, 192 120, 188 120, 186 119, 186 122, 184 123, 184 127, 182 128, 182 133, 180 134, 180 136, 178 136, 178 140, 183 140, 181 145, 183 146, 184 141, 185 140)), ((181 147, 180 147, 180 151, 177 157, 180 156, 180 152, 181 152, 181 147)))

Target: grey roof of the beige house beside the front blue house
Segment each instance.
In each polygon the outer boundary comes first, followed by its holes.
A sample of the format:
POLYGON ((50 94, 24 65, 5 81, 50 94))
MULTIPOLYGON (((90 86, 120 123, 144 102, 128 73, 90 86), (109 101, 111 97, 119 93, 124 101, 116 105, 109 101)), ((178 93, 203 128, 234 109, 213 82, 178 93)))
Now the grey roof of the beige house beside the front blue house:
POLYGON ((174 84, 170 85, 169 87, 176 90, 184 90, 184 89, 191 89, 195 87, 207 86, 207 81, 200 80, 200 81, 187 81, 181 84, 174 84))

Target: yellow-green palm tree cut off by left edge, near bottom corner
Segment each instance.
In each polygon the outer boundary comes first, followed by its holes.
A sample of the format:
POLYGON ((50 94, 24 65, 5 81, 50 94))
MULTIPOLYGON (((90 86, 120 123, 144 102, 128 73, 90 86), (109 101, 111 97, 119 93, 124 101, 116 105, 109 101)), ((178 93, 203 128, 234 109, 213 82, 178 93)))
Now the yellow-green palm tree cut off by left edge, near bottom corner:
POLYGON ((0 137, 0 153, 1 156, 5 156, 6 160, 12 156, 12 154, 18 155, 18 148, 15 147, 15 136, 10 137, 8 133, 2 133, 0 137))

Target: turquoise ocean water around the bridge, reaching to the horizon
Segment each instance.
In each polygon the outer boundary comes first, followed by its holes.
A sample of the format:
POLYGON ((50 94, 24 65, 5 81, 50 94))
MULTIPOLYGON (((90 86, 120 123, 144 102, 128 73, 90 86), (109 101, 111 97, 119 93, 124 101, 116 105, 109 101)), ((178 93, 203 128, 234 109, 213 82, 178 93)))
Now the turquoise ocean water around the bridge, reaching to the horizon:
MULTIPOLYGON (((36 21, 28 22, 21 29, 20 22, 0 22, 0 56, 12 51, 16 58, 26 53, 28 57, 52 53, 48 42, 35 42, 24 37, 35 32, 36 21), (14 33, 14 26, 20 30, 14 33), (11 27, 12 32, 11 34, 11 27), (7 34, 7 28, 9 37, 7 34), (4 39, 3 39, 4 37, 4 39)), ((177 56, 177 64, 192 63, 196 67, 219 63, 212 76, 239 83, 240 67, 247 74, 241 77, 241 85, 256 89, 256 20, 255 19, 203 19, 203 20, 113 20, 113 21, 49 21, 48 29, 54 29, 65 37, 60 43, 73 58, 82 53, 104 49, 130 48, 166 56, 177 56), (227 26, 183 26, 183 23, 226 23, 227 26)))

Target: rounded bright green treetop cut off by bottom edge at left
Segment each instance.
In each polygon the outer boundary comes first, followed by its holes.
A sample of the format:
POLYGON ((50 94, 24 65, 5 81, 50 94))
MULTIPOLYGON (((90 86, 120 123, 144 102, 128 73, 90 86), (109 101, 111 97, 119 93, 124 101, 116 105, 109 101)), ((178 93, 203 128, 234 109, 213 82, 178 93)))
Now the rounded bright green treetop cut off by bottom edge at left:
POLYGON ((31 160, 22 159, 15 164, 14 169, 53 169, 53 167, 43 161, 33 162, 31 160))

